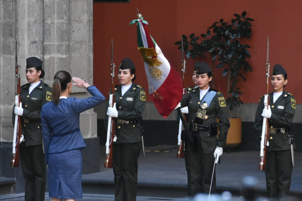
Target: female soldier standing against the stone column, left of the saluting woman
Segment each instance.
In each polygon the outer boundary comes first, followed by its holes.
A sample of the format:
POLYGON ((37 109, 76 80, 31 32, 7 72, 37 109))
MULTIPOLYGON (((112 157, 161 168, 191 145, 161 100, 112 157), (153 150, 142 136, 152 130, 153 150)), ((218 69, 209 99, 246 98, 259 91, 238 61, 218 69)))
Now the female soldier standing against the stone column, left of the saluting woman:
POLYGON ((45 196, 45 156, 42 146, 41 108, 51 101, 51 87, 40 78, 45 75, 42 61, 26 59, 27 84, 21 86, 21 104, 14 113, 21 116, 24 142, 20 143, 20 162, 25 179, 25 201, 43 201, 45 196))

